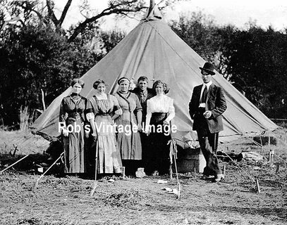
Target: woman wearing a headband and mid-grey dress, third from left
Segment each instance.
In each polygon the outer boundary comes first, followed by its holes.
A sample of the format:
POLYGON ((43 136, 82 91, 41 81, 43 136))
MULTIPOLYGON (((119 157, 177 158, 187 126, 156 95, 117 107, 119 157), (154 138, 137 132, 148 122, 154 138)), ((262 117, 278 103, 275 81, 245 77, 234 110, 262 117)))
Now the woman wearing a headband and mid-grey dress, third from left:
POLYGON ((116 92, 115 96, 123 110, 123 114, 115 121, 118 127, 118 148, 126 172, 134 174, 142 160, 142 144, 138 132, 142 129, 142 106, 138 96, 128 91, 130 86, 128 78, 118 79, 118 85, 120 90, 116 92))

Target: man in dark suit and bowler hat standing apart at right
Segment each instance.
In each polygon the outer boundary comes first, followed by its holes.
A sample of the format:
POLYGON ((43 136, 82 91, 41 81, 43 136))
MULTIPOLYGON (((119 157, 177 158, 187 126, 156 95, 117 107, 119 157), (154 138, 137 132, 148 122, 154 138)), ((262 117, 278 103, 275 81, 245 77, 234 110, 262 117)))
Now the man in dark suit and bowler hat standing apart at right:
POLYGON ((193 120, 193 130, 197 131, 202 154, 207 162, 203 178, 214 176, 214 181, 224 179, 216 158, 219 131, 224 129, 221 114, 226 110, 224 91, 212 83, 214 65, 204 63, 200 68, 203 84, 195 86, 189 103, 189 113, 193 120))

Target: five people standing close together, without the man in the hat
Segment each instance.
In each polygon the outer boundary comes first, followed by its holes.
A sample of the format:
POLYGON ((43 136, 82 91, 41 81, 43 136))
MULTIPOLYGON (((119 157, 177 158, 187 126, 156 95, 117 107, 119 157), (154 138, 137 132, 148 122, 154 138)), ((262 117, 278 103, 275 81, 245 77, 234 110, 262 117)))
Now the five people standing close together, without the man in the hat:
POLYGON ((66 173, 89 172, 93 165, 98 174, 121 173, 123 166, 128 174, 135 174, 138 167, 149 174, 168 172, 171 134, 150 125, 170 127, 173 100, 165 95, 164 82, 157 80, 152 89, 147 84, 142 76, 130 90, 130 80, 121 77, 119 90, 111 95, 99 79, 93 84, 96 94, 87 99, 80 96, 83 81, 73 79, 73 93, 63 98, 60 108, 60 122, 66 122, 61 127, 66 173), (76 125, 81 128, 71 129, 76 125))

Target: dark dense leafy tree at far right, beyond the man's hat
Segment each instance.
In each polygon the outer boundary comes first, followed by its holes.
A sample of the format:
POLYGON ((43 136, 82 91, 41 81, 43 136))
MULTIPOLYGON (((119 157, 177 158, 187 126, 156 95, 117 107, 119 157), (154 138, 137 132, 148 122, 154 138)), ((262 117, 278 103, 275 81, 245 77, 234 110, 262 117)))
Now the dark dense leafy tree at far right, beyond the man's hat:
POLYGON ((287 81, 283 78, 287 71, 286 48, 286 33, 250 25, 248 30, 233 34, 232 41, 226 44, 229 50, 224 52, 229 58, 226 72, 231 82, 270 117, 287 113, 287 81))

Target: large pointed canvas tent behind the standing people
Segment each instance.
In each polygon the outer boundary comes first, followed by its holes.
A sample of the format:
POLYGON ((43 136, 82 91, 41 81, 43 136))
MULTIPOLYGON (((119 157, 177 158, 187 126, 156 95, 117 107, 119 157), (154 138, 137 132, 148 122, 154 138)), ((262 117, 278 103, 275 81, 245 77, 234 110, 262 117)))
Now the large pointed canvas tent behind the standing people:
MULTIPOLYGON (((171 30, 155 6, 112 51, 81 77, 85 82, 81 94, 90 98, 94 94, 92 84, 97 79, 104 79, 109 84, 111 94, 117 91, 116 81, 120 77, 137 80, 145 75, 150 80, 150 86, 152 79, 161 79, 171 88, 168 96, 173 98, 176 108, 173 124, 178 127, 177 136, 182 136, 192 131, 188 103, 193 87, 202 83, 199 67, 203 64, 204 60, 171 30)), ((220 141, 277 128, 218 72, 213 78, 212 81, 224 89, 227 101, 220 141)), ((49 140, 60 135, 59 105, 64 96, 71 94, 71 90, 71 87, 68 88, 49 105, 32 124, 32 131, 49 140)))

